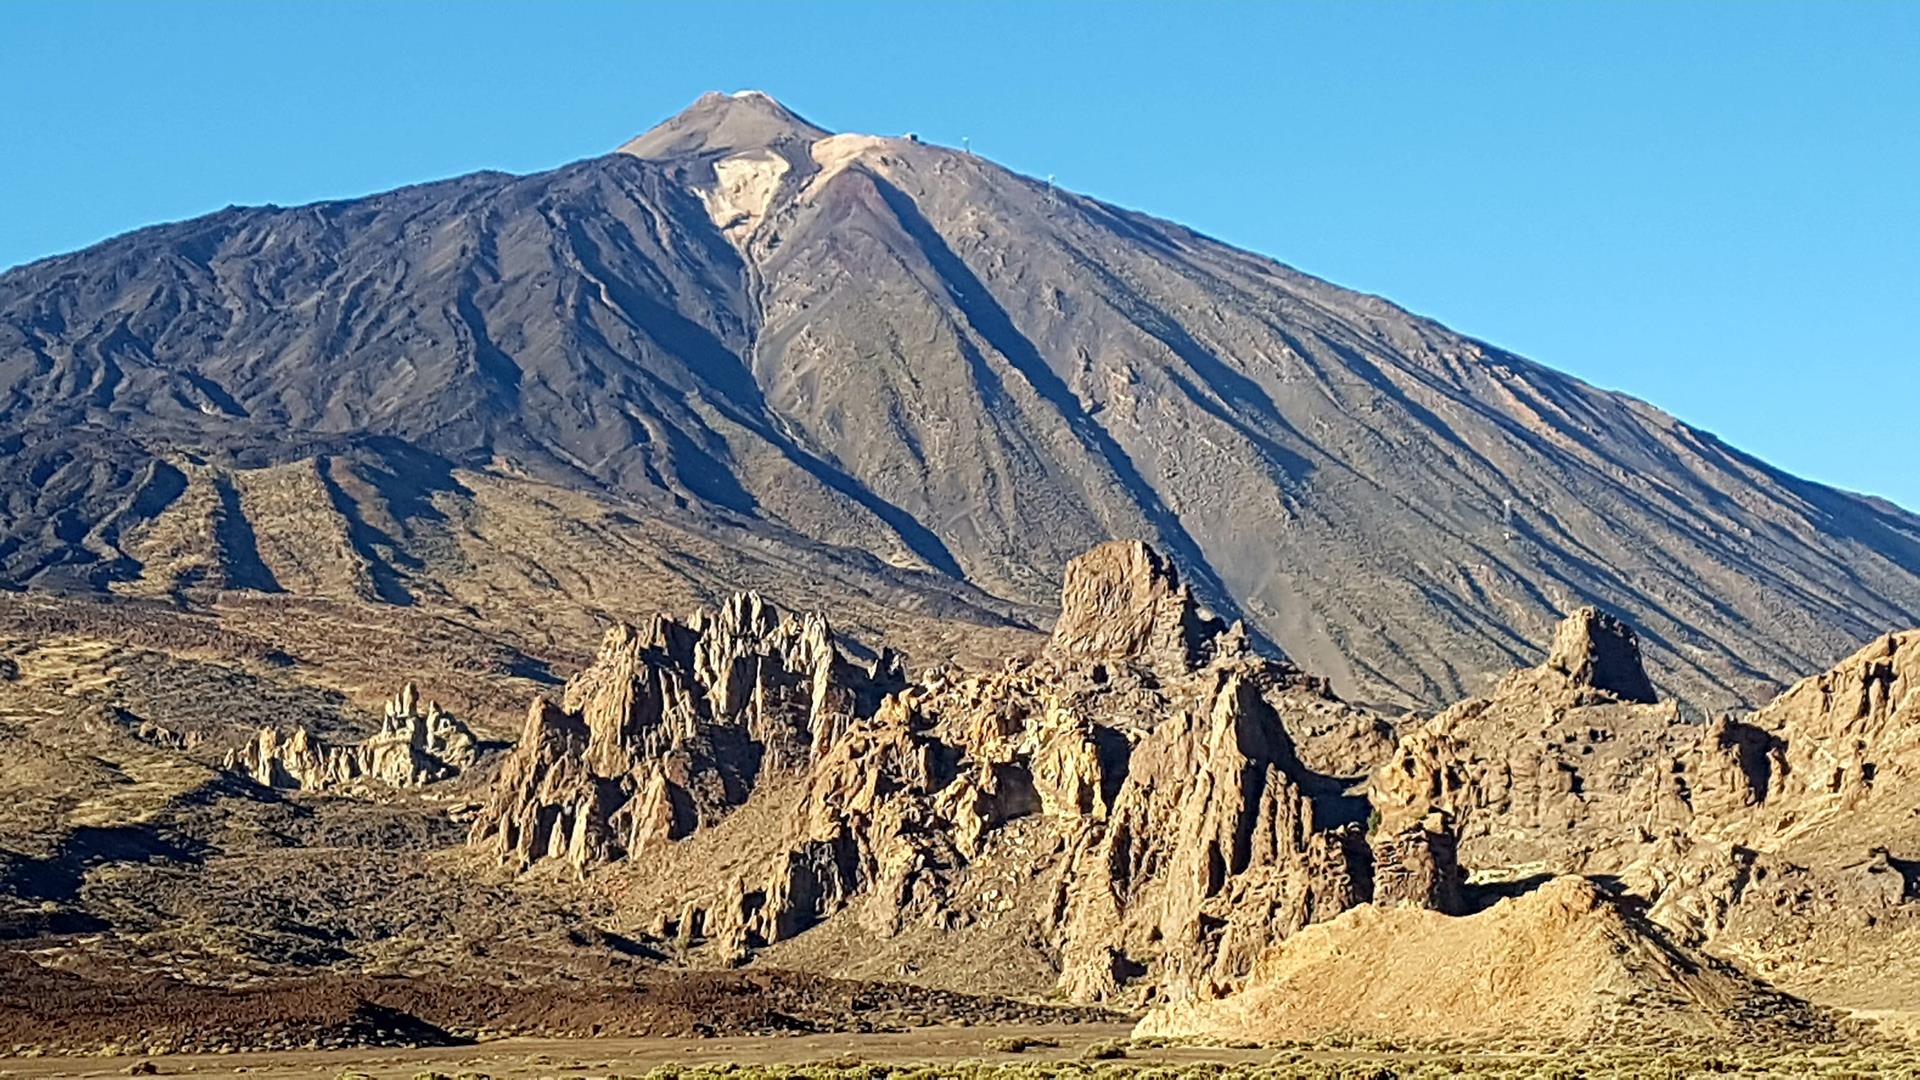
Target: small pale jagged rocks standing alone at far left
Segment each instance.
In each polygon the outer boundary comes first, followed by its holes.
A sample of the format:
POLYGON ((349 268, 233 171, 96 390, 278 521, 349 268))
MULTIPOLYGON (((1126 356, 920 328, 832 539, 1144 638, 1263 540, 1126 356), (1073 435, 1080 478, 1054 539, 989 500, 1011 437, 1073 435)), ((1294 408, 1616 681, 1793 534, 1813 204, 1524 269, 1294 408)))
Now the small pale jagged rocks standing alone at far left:
POLYGON ((307 728, 259 728, 253 742, 227 753, 225 765, 269 788, 315 792, 349 784, 419 788, 457 776, 478 759, 480 744, 467 724, 436 701, 422 709, 409 682, 386 703, 380 730, 365 742, 330 746, 307 728))

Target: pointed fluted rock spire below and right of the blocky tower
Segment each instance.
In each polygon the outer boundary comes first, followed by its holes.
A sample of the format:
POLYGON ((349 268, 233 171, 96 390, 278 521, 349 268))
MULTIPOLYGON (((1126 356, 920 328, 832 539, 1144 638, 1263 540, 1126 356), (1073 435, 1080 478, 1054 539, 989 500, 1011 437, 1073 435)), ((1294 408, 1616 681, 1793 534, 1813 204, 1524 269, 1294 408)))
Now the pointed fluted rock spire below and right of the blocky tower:
POLYGON ((1260 678, 1233 663, 1133 746, 1104 828, 1062 878, 1062 988, 1119 997, 1133 965, 1162 992, 1223 994, 1294 930, 1367 899, 1361 830, 1323 821, 1260 678))

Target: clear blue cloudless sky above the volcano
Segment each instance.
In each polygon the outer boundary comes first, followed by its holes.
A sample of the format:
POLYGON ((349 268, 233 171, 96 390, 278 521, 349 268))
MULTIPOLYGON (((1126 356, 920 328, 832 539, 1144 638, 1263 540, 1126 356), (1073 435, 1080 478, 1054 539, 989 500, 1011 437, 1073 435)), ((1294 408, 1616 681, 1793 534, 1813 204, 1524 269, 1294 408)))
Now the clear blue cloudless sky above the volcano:
POLYGON ((712 88, 972 136, 1920 509, 1920 2, 0 0, 0 267, 712 88))

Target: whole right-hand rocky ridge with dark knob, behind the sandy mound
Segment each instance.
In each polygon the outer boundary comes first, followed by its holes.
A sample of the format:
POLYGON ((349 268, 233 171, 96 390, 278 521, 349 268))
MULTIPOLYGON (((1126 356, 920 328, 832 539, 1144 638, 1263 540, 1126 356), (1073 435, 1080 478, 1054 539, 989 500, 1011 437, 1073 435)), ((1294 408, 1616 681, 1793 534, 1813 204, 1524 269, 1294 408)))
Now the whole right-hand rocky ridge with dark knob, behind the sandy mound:
POLYGON ((1899 1015, 1887 988, 1920 976, 1916 688, 1920 632, 1889 634, 1747 717, 1684 723, 1644 703, 1632 632, 1576 613, 1546 665, 1405 732, 1375 771, 1375 896, 1396 892, 1382 834, 1444 811, 1475 878, 1607 874, 1686 947, 1899 1015))

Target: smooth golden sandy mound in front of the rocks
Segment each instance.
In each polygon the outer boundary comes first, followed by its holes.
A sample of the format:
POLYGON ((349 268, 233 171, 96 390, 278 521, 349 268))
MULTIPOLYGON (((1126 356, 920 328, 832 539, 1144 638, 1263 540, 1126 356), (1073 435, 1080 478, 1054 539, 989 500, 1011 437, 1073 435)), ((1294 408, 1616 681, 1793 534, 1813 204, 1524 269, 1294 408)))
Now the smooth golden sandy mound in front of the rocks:
POLYGON ((1469 917, 1365 905, 1269 949, 1246 990, 1148 1013, 1137 1036, 1296 1040, 1663 1034, 1828 1040, 1818 1009, 1686 953, 1586 878, 1469 917))

